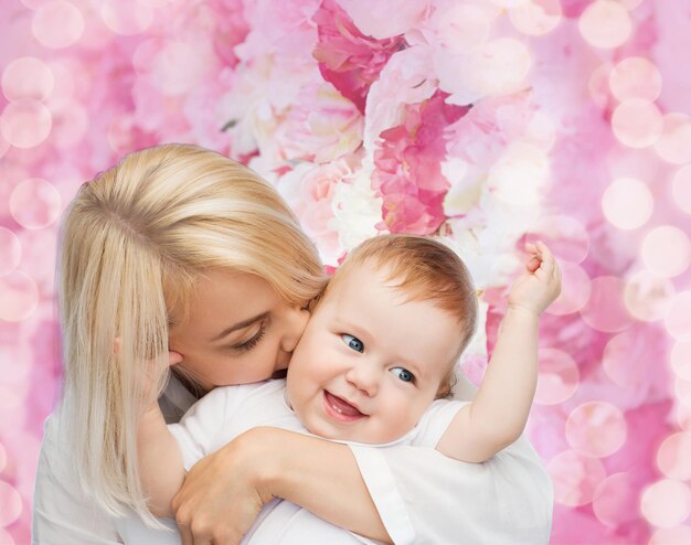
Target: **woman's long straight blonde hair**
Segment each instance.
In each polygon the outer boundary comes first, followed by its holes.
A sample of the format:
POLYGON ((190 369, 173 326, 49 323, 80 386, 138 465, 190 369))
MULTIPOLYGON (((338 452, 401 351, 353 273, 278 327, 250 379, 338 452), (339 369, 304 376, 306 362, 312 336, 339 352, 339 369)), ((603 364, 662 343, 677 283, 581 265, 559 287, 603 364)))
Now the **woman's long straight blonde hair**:
MULTIPOLYGON (((167 367, 172 309, 185 307, 210 268, 258 275, 305 306, 323 287, 318 254, 257 174, 220 153, 166 145, 82 186, 64 218, 59 261, 63 421, 81 484, 111 515, 129 507, 151 523, 137 421, 147 365, 167 367)), ((149 396, 163 384, 153 386, 149 396)))

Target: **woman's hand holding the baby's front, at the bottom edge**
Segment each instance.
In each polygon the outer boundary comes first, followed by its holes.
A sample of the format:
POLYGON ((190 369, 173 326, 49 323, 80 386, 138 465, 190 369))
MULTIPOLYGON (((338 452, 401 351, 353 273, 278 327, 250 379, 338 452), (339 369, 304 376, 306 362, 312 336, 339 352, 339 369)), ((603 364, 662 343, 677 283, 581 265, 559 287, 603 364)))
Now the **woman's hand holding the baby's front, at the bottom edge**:
POLYGON ((172 501, 182 545, 235 545, 273 500, 270 428, 253 428, 192 467, 172 501))

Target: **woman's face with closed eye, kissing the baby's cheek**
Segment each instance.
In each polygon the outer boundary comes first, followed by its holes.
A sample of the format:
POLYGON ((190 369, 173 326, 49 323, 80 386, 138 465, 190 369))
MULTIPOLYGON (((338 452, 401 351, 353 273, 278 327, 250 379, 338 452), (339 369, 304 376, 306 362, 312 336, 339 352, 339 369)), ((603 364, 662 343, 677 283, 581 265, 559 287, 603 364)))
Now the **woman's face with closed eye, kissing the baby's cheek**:
POLYGON ((264 381, 288 366, 308 318, 263 278, 213 270, 198 280, 169 348, 182 354, 179 366, 206 391, 264 381))

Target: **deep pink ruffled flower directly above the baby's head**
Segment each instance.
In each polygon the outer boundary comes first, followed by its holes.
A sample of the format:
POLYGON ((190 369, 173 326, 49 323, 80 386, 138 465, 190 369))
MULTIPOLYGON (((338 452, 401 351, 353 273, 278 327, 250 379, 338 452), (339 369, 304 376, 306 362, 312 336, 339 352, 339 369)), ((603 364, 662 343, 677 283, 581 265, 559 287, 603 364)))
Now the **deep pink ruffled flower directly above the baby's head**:
POLYGON ((445 220, 448 180, 442 174, 446 156, 446 127, 468 111, 448 105, 445 93, 405 107, 402 125, 380 135, 374 152, 373 188, 382 195, 383 217, 393 233, 430 234, 445 220))

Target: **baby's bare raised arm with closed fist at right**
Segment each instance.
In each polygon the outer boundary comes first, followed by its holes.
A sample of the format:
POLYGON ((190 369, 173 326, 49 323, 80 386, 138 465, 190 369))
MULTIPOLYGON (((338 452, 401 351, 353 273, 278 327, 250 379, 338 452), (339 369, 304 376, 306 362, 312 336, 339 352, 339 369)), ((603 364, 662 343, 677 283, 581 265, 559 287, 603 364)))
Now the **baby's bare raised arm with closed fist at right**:
POLYGON ((450 458, 482 462, 523 432, 538 382, 540 314, 561 290, 561 272, 542 243, 525 246, 525 270, 509 292, 509 308, 485 380, 442 436, 437 450, 450 458))

